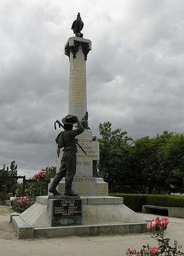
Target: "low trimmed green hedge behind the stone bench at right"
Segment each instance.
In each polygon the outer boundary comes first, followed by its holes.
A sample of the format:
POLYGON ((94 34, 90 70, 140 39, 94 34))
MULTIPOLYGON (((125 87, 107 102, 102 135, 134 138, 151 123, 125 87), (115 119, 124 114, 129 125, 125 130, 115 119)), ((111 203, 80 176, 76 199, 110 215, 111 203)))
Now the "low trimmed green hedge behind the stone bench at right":
POLYGON ((135 212, 142 212, 142 205, 145 204, 184 208, 184 196, 124 193, 109 193, 109 196, 123 197, 124 204, 135 212))

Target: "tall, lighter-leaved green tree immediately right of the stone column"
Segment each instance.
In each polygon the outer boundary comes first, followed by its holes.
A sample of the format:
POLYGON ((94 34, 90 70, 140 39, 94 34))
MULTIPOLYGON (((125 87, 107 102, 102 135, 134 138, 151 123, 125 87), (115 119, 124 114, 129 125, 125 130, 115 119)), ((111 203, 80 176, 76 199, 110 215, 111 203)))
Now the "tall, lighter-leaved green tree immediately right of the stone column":
POLYGON ((133 142, 131 137, 127 136, 127 131, 120 128, 114 131, 111 123, 104 122, 99 124, 101 138, 100 143, 100 175, 109 182, 110 191, 116 191, 115 187, 121 186, 125 182, 127 175, 127 157, 133 142))

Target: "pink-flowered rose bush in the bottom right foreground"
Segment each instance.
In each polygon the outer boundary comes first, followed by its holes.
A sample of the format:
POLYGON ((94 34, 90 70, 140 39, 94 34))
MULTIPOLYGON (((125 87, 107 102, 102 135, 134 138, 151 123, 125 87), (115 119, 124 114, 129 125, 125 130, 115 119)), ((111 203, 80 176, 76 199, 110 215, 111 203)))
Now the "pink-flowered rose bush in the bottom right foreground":
POLYGON ((169 245, 170 238, 164 238, 164 233, 167 230, 169 220, 166 217, 161 219, 157 216, 153 218, 147 224, 147 229, 150 231, 151 237, 155 238, 158 241, 159 247, 150 247, 149 244, 143 245, 140 251, 135 249, 127 248, 127 256, 183 256, 184 253, 181 251, 181 245, 178 245, 178 242, 174 240, 173 247, 169 245))

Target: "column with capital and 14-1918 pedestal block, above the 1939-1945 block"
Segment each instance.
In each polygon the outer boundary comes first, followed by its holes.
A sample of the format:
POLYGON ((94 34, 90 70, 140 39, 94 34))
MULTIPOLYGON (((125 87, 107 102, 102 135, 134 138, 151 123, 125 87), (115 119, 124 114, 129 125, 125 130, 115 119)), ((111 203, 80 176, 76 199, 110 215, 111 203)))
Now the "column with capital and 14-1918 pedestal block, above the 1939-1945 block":
MULTIPOLYGON (((69 56, 69 114, 76 115, 81 120, 87 111, 86 60, 92 49, 92 42, 81 37, 70 37, 64 49, 64 53, 69 56)), ((78 139, 91 157, 78 148, 76 176, 92 177, 92 160, 94 155, 99 158, 97 149, 92 147, 92 131, 85 130, 78 139)))

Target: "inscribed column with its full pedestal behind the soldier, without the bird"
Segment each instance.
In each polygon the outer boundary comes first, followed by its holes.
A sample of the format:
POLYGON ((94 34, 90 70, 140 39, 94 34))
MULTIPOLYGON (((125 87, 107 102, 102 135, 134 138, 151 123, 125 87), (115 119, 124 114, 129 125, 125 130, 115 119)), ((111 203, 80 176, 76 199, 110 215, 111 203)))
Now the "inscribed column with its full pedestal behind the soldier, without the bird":
MULTIPOLYGON (((64 53, 69 57, 69 106, 68 113, 88 119, 87 94, 86 94, 86 60, 87 54, 92 50, 92 42, 80 37, 83 34, 76 33, 65 44, 64 53)), ((106 196, 108 184, 102 178, 94 175, 99 160, 99 143, 92 136, 91 129, 87 126, 79 135, 78 142, 86 151, 78 147, 76 175, 73 180, 73 190, 80 196, 106 196), (96 176, 96 177, 94 177, 96 176)), ((61 156, 57 157, 57 171, 61 163, 61 156)), ((64 191, 64 179, 58 185, 58 191, 64 191)))

